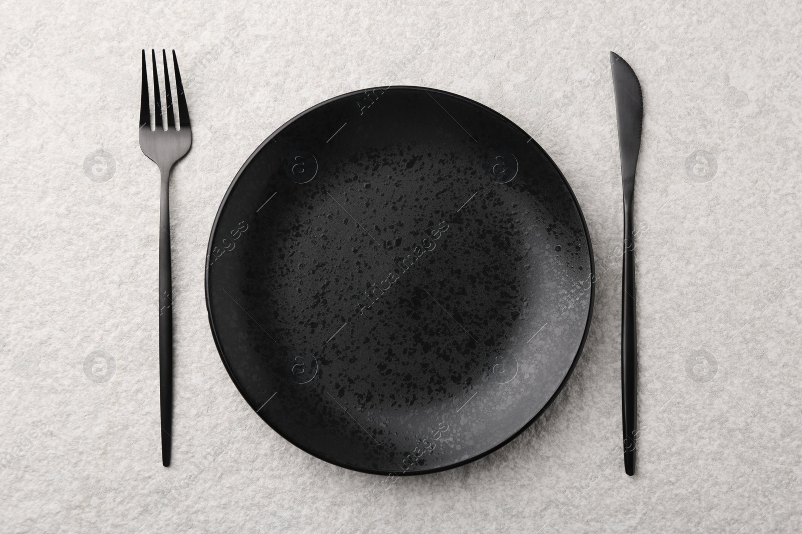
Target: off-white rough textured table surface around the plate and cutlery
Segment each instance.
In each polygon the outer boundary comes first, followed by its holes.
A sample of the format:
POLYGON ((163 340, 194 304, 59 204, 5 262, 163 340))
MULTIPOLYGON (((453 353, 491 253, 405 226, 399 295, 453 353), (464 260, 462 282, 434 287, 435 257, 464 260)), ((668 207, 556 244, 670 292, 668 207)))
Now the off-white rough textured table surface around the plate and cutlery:
POLYGON ((0 532, 800 532, 798 2, 0 2, 0 532), (460 5, 461 4, 461 5, 460 5), (173 464, 159 441, 159 185, 140 49, 175 48, 173 464), (638 475, 620 452, 621 181, 608 54, 646 102, 638 475), (593 239, 569 384, 452 471, 349 472, 253 413, 209 331, 206 243, 277 126, 367 86, 474 98, 537 139, 593 239))

